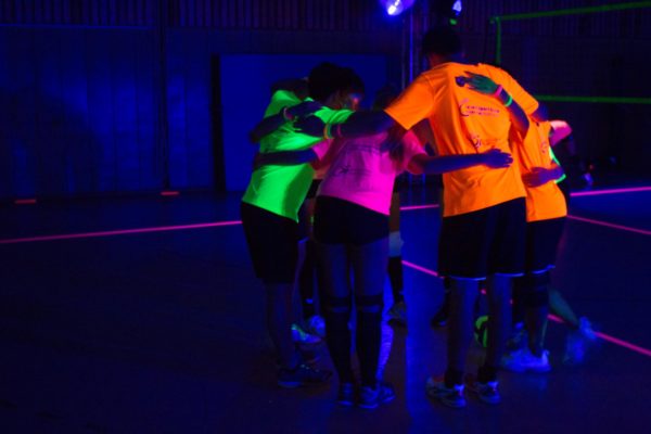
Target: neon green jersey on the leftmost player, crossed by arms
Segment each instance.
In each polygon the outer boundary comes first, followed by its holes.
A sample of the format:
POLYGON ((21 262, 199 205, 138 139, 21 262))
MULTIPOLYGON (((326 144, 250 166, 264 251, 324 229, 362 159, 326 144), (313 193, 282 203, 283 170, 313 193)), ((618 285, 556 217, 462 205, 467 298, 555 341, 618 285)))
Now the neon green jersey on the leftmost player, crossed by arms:
MULTIPOLYGON (((283 107, 302 101, 290 91, 279 90, 271 97, 265 117, 280 113, 283 107)), ((353 114, 349 110, 322 107, 315 113, 324 123, 340 124, 353 114)), ((260 140, 260 152, 303 151, 323 140, 297 132, 292 123, 285 123, 260 140)), ((242 202, 298 221, 298 208, 305 200, 315 170, 309 164, 294 166, 263 166, 253 171, 242 202)))

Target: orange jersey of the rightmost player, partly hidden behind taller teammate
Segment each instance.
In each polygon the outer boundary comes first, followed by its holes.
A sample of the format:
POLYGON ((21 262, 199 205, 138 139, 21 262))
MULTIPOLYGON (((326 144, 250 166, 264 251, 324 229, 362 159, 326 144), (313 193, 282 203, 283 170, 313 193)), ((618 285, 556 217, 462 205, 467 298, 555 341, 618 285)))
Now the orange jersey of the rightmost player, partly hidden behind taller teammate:
MULTIPOLYGON (((528 174, 534 167, 546 169, 556 166, 549 152, 549 122, 536 123, 529 118, 529 129, 524 140, 513 135, 513 157, 520 171, 528 174)), ((565 196, 561 189, 551 180, 542 186, 526 187, 526 221, 547 220, 567 215, 565 196)))

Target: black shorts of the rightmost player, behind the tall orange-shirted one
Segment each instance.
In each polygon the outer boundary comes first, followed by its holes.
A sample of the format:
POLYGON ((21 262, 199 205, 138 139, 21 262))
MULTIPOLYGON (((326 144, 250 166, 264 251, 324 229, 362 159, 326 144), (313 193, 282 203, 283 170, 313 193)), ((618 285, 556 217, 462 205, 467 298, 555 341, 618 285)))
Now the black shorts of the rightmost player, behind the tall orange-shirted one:
POLYGON ((526 224, 524 270, 527 273, 542 273, 553 268, 564 227, 564 217, 526 224))

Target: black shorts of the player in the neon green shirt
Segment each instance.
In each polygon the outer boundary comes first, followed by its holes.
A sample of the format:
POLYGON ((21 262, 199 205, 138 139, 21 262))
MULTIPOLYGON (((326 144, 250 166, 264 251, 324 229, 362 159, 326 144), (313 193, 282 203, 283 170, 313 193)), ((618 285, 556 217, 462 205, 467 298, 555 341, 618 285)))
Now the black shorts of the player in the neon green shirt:
POLYGON ((298 224, 242 202, 242 227, 255 275, 265 283, 293 283, 298 261, 298 224))

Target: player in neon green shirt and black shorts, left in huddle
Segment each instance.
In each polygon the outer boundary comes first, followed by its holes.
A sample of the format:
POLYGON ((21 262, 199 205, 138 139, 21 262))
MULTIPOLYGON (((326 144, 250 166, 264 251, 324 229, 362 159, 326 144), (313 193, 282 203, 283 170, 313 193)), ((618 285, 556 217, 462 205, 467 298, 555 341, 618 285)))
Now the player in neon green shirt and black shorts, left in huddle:
MULTIPOLYGON (((322 106, 315 116, 324 123, 344 122, 350 114, 346 99, 353 92, 352 75, 345 68, 322 63, 309 74, 309 95, 322 106)), ((321 141, 294 128, 303 101, 288 90, 278 90, 265 112, 273 124, 284 123, 260 140, 260 152, 301 151, 321 141), (295 108, 296 107, 296 108, 295 108)), ((312 180, 309 164, 263 166, 256 168, 242 197, 242 226, 256 276, 267 289, 267 328, 279 356, 278 384, 297 387, 324 383, 331 372, 319 371, 302 362, 292 340, 292 295, 298 261, 298 208, 312 180)))

